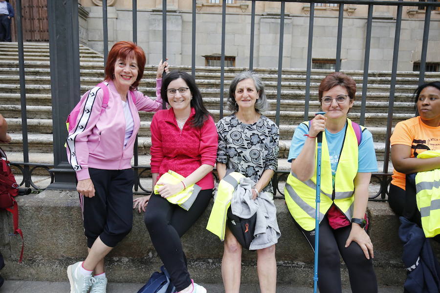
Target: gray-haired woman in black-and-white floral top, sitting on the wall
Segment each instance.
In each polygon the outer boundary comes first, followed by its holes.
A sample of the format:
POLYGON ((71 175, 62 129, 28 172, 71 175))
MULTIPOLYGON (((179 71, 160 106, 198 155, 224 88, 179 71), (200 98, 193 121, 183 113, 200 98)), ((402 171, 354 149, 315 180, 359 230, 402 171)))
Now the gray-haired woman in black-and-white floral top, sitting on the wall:
MULTIPOLYGON (((262 114, 267 108, 267 99, 263 82, 255 72, 245 71, 234 78, 229 87, 227 104, 232 114, 216 125, 219 134, 219 179, 226 175, 226 169, 239 172, 256 182, 252 189, 252 199, 263 193, 273 198, 271 178, 278 167, 279 130, 275 123, 262 114)), ((276 215, 273 216, 278 229, 276 215)), ((257 259, 261 292, 275 293, 275 244, 257 250, 257 259)), ((242 246, 226 228, 221 262, 226 293, 240 291, 241 264, 242 246)))

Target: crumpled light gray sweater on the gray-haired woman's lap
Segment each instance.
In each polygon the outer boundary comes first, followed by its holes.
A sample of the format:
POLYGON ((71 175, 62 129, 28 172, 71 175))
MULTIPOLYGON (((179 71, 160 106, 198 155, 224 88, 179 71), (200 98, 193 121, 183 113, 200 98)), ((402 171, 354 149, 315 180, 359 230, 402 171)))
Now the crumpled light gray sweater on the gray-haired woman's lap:
POLYGON ((260 192, 255 200, 252 199, 252 188, 255 182, 244 177, 232 195, 232 213, 240 218, 248 219, 257 213, 254 240, 249 250, 270 247, 278 242, 281 236, 277 222, 277 209, 269 192, 260 192))

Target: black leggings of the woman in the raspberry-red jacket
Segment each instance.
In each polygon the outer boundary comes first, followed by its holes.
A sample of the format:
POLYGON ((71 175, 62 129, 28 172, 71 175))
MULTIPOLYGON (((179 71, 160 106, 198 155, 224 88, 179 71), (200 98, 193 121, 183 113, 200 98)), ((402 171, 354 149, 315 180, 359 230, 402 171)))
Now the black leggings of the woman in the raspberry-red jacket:
POLYGON ((191 208, 184 210, 153 194, 145 210, 144 221, 154 249, 170 273, 177 292, 191 284, 180 237, 197 221, 211 197, 212 189, 201 190, 191 208))

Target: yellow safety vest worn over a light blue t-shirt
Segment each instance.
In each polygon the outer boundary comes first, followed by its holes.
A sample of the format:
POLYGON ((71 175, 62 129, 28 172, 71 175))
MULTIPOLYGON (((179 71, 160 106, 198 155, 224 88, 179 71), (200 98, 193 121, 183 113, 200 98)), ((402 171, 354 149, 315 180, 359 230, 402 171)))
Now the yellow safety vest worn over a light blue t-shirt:
MULTIPOLYGON (((308 125, 308 122, 303 122, 308 125)), ((361 130, 365 127, 361 126, 361 130)), ((317 144, 317 143, 316 143, 317 144)), ((315 166, 317 152, 315 153, 315 166)), ((330 155, 326 134, 322 133, 321 152, 321 203, 319 222, 334 203, 349 221, 353 214, 354 178, 358 170, 358 143, 352 122, 347 118, 347 130, 336 168, 334 190, 330 155)), ((302 182, 293 172, 289 174, 284 188, 287 208, 295 221, 307 231, 315 229, 316 167, 313 176, 302 182)))

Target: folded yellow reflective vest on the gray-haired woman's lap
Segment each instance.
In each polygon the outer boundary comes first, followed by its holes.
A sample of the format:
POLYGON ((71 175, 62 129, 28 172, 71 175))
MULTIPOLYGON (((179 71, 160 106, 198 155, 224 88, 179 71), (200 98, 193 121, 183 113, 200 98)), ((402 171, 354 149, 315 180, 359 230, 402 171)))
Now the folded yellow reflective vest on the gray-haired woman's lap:
POLYGON ((244 175, 239 172, 232 172, 224 176, 219 182, 217 188, 217 196, 214 205, 209 215, 208 225, 206 230, 219 236, 220 240, 224 240, 224 233, 226 229, 227 211, 231 206, 232 195, 240 183, 240 179, 244 175))

